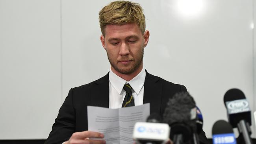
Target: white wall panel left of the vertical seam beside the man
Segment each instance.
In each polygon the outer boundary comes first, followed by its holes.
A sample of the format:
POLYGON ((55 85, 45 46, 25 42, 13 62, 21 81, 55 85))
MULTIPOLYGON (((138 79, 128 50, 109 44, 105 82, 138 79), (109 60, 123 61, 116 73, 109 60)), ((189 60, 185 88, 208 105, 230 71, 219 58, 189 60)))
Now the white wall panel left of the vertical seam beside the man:
POLYGON ((0 0, 0 139, 46 138, 61 105, 60 5, 0 0))

